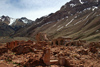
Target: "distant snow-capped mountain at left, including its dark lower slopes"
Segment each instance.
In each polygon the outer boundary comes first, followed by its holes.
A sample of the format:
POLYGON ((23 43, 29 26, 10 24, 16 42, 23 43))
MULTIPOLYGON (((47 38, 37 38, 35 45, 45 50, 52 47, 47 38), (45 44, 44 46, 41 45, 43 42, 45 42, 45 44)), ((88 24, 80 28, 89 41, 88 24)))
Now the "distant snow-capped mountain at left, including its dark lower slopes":
POLYGON ((25 17, 14 19, 3 15, 0 17, 0 37, 12 36, 17 30, 33 22, 25 17))

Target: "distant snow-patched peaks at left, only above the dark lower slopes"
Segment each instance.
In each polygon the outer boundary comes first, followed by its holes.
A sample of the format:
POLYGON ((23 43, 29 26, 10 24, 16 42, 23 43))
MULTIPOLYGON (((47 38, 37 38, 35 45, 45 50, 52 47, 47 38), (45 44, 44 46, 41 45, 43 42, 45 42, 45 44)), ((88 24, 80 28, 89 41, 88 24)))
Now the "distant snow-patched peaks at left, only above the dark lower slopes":
POLYGON ((0 21, 6 23, 7 25, 11 26, 14 30, 18 30, 24 27, 27 24, 33 23, 34 21, 27 19, 26 17, 22 18, 11 18, 9 16, 1 16, 0 21))

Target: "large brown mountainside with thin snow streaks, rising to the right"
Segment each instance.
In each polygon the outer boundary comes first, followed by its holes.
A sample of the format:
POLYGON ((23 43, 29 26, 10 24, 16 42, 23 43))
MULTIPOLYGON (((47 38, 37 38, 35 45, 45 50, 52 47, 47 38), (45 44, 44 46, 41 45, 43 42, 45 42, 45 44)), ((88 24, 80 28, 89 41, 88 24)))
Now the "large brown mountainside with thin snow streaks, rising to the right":
POLYGON ((51 38, 70 36, 73 39, 99 40, 99 19, 100 0, 71 0, 56 13, 36 19, 27 29, 20 29, 15 36, 33 37, 44 32, 51 38))

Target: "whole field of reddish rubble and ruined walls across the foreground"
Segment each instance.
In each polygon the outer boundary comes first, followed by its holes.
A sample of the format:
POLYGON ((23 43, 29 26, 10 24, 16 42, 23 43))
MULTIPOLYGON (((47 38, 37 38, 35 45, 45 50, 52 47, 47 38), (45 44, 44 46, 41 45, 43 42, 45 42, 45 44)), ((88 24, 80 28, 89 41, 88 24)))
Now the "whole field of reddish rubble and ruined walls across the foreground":
POLYGON ((13 41, 0 46, 0 67, 100 67, 100 42, 71 38, 13 41))

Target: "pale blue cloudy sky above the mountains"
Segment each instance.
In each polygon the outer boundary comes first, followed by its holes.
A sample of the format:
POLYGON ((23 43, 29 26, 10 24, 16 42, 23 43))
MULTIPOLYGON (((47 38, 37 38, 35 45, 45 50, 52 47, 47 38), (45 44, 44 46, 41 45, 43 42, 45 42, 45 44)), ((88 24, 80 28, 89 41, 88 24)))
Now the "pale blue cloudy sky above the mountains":
POLYGON ((35 20, 54 13, 70 0, 0 0, 0 16, 35 20))

